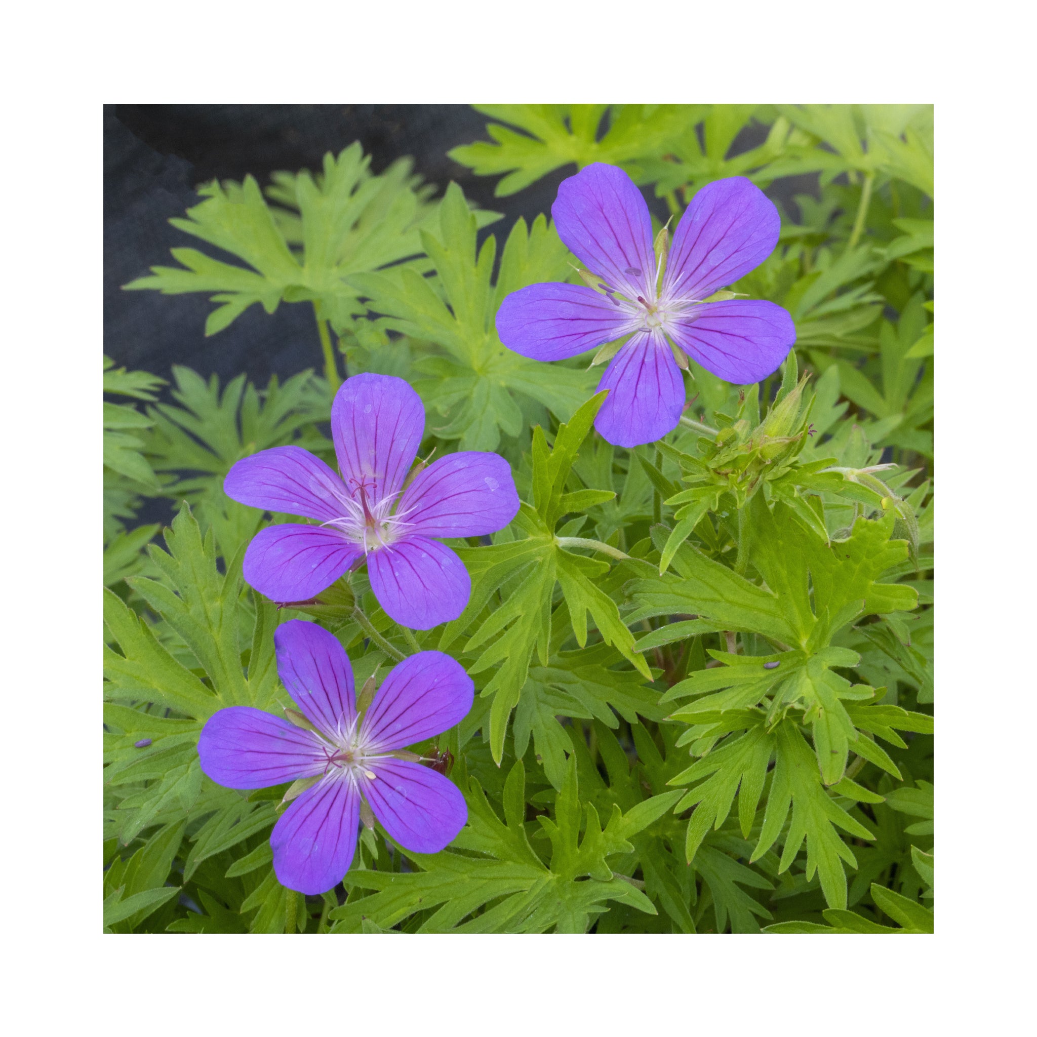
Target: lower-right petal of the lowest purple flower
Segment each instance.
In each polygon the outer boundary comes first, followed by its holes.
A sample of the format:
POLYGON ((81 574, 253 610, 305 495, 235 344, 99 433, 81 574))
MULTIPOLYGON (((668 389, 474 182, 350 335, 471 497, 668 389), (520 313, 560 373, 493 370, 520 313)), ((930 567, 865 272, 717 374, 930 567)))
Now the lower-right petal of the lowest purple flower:
POLYGON ((374 781, 362 780, 364 798, 390 837, 415 853, 438 853, 468 820, 457 786, 420 763, 372 760, 374 781))

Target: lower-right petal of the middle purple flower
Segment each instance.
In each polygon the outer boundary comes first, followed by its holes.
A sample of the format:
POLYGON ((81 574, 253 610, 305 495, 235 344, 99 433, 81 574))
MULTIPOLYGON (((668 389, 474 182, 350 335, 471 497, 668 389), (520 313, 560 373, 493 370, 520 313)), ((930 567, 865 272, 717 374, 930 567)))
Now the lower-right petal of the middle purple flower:
POLYGON ((416 630, 456 619, 472 593, 465 563, 448 546, 425 536, 372 551, 367 576, 389 618, 416 630))

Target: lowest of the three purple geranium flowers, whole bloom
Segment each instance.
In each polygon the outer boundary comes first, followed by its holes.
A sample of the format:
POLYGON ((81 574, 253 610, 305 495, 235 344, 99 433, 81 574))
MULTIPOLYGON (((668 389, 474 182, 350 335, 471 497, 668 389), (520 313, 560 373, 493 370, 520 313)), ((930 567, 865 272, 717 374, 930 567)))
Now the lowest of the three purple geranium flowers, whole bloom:
POLYGON ((468 820, 465 797, 402 750, 468 716, 472 678, 449 655, 418 652, 389 673, 358 717, 353 668, 334 635, 292 619, 274 643, 277 672, 313 729, 231 706, 208 719, 198 756, 202 770, 229 788, 312 782, 271 833, 277 880, 309 895, 337 886, 353 863, 362 798, 404 849, 443 849, 468 820))

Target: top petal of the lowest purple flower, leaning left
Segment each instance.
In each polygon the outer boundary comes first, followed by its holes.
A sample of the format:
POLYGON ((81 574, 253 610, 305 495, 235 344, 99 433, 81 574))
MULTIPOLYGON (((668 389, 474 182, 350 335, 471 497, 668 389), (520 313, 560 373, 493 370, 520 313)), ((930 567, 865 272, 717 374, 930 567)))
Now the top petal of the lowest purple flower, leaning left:
POLYGON ((334 739, 357 716, 353 667, 338 638, 316 623, 291 619, 274 632, 274 646, 288 694, 306 719, 334 739))

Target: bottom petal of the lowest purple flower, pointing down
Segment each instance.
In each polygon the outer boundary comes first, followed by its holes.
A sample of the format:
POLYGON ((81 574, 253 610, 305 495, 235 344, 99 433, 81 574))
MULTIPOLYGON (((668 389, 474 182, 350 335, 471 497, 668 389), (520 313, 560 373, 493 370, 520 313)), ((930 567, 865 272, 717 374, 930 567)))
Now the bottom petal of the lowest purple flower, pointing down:
POLYGON ((347 778, 308 788, 270 835, 277 880, 307 896, 334 889, 353 863, 359 822, 360 791, 347 778))

